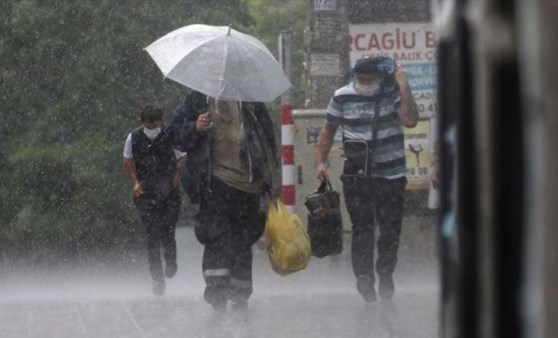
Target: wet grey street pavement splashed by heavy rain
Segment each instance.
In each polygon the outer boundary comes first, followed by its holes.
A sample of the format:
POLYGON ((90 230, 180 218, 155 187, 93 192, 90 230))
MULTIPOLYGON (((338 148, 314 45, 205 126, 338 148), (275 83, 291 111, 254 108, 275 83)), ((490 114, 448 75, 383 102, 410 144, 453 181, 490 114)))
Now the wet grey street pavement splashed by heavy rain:
POLYGON ((365 304, 355 288, 347 236, 336 257, 312 258, 288 276, 254 246, 254 294, 246 311, 203 301, 202 246, 177 230, 179 271, 163 297, 151 294, 144 260, 118 266, 11 270, 0 276, 0 337, 396 337, 435 338, 439 272, 433 216, 406 217, 396 293, 365 304))

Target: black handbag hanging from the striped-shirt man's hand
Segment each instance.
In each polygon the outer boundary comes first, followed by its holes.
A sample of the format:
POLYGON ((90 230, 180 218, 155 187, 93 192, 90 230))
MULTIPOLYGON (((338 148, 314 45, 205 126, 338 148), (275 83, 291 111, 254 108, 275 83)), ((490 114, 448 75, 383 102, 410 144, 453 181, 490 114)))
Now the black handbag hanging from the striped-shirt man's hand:
POLYGON ((322 258, 343 251, 343 222, 339 210, 339 193, 333 191, 329 180, 306 197, 308 236, 312 256, 322 258))

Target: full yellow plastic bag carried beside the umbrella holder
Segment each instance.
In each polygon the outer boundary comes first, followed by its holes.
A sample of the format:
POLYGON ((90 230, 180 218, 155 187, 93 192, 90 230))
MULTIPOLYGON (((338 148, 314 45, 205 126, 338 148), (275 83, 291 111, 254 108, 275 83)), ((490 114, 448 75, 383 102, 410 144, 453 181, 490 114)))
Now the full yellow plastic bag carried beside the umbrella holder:
POLYGON ((310 261, 310 238, 300 218, 280 200, 269 203, 265 242, 271 267, 282 276, 306 268, 310 261))

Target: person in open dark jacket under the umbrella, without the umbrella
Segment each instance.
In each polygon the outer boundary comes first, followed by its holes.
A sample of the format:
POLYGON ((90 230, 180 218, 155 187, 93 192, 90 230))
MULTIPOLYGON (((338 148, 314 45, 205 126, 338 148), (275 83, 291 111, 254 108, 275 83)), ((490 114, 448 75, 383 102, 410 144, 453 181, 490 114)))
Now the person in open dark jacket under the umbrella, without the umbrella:
POLYGON ((195 234, 204 245, 204 299, 216 310, 243 309, 252 294, 252 245, 266 215, 260 199, 279 197, 280 166, 273 124, 263 103, 219 101, 196 91, 175 109, 188 152, 186 191, 199 203, 195 234))

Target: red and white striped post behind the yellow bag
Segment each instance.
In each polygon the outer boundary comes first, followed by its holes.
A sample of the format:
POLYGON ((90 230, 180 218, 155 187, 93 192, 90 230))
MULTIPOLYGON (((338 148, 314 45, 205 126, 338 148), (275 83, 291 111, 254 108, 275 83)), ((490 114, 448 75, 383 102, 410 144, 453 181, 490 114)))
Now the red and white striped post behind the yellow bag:
POLYGON ((293 107, 281 106, 281 158, 282 158, 282 201, 289 211, 295 211, 295 163, 293 136, 293 107))

